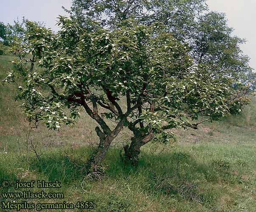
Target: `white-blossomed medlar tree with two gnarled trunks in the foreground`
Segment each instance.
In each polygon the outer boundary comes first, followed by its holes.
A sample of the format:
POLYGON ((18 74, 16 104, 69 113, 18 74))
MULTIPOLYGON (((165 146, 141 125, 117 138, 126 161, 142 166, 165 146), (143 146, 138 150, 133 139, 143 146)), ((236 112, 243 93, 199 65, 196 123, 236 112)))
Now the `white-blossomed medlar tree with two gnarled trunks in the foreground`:
POLYGON ((168 142, 175 138, 169 129, 197 129, 204 121, 239 113, 249 102, 246 88, 234 90, 234 80, 211 77, 161 25, 129 19, 114 30, 97 27, 92 32, 59 19, 57 34, 28 22, 25 41, 12 48, 18 58, 6 82, 19 86, 17 99, 24 101, 29 120, 51 129, 72 124, 84 108, 99 125, 100 143, 89 167, 102 162, 123 127, 133 132, 124 151, 135 164, 141 146, 155 135, 168 142), (19 85, 21 77, 25 83, 19 85), (196 123, 198 116, 206 119, 196 123), (114 129, 106 119, 116 123, 114 129))

